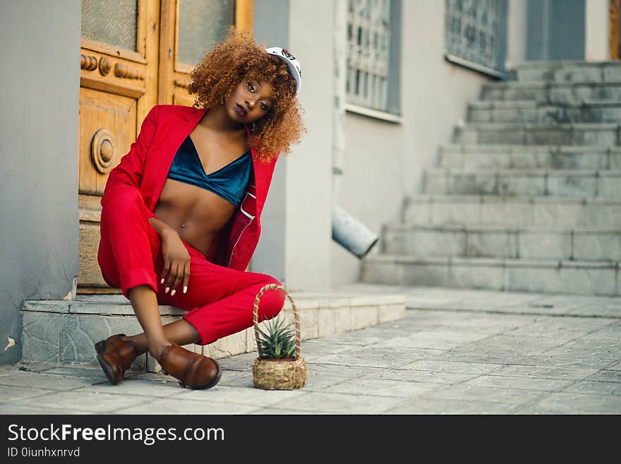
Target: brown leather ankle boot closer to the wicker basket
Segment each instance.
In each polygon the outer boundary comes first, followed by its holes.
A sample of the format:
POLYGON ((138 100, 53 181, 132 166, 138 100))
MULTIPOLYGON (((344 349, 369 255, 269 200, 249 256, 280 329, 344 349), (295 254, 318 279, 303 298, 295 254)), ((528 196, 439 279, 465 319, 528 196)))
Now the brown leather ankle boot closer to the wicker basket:
POLYGON ((176 343, 164 348, 159 364, 167 374, 179 379, 183 387, 212 388, 222 376, 222 369, 214 359, 188 351, 176 343))

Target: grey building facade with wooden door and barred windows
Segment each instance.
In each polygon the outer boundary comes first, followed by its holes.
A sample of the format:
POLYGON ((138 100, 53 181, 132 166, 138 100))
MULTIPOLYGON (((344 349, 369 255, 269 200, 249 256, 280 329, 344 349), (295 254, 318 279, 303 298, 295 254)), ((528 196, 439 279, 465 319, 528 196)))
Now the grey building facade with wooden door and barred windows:
MULTIPOLYGON (((189 72, 231 24, 303 66, 308 134, 282 157, 251 270, 294 291, 356 282, 340 206, 380 232, 421 191, 481 85, 525 61, 618 59, 618 0, 0 1, 0 363, 25 299, 105 293, 107 172, 152 105, 191 105, 189 72), (78 61, 80 67, 78 68, 78 61)), ((371 253, 376 252, 375 249, 371 253)))

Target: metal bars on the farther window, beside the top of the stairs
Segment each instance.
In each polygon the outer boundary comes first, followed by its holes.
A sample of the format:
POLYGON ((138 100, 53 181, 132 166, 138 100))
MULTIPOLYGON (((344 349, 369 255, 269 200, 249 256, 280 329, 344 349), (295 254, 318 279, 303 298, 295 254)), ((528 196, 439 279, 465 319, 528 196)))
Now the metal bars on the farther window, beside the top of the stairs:
POLYGON ((447 53, 500 70, 500 0, 446 0, 447 53))

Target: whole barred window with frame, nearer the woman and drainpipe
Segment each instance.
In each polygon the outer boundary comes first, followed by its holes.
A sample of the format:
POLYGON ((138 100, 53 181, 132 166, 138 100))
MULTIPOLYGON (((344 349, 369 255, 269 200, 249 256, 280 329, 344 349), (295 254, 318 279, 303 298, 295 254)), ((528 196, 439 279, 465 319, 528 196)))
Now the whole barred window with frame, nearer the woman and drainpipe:
POLYGON ((348 0, 348 110, 399 114, 400 16, 400 0, 348 0))

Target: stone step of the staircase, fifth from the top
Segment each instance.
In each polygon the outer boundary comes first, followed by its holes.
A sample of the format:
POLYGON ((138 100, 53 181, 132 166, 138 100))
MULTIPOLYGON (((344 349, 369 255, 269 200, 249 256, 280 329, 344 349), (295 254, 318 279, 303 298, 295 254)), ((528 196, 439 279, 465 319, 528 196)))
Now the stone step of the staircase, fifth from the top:
POLYGON ((445 145, 440 166, 464 169, 621 170, 621 148, 557 145, 445 145))

